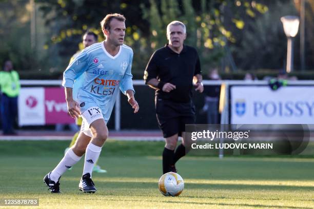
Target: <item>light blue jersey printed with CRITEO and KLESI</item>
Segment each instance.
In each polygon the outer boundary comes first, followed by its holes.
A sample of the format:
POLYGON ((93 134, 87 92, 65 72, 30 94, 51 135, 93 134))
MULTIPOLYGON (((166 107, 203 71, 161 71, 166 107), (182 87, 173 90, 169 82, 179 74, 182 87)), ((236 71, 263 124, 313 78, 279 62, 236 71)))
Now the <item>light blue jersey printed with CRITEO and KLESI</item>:
MULTIPOLYGON (((80 104, 81 113, 91 107, 99 107, 107 123, 118 88, 124 94, 127 90, 135 93, 131 74, 132 59, 133 51, 126 45, 120 46, 119 52, 111 56, 104 47, 104 41, 93 44, 82 50, 70 63, 63 73, 62 86, 73 88, 75 80, 73 91, 75 93, 77 89, 76 101, 80 104)), ((73 98, 75 100, 75 95, 73 98)))

